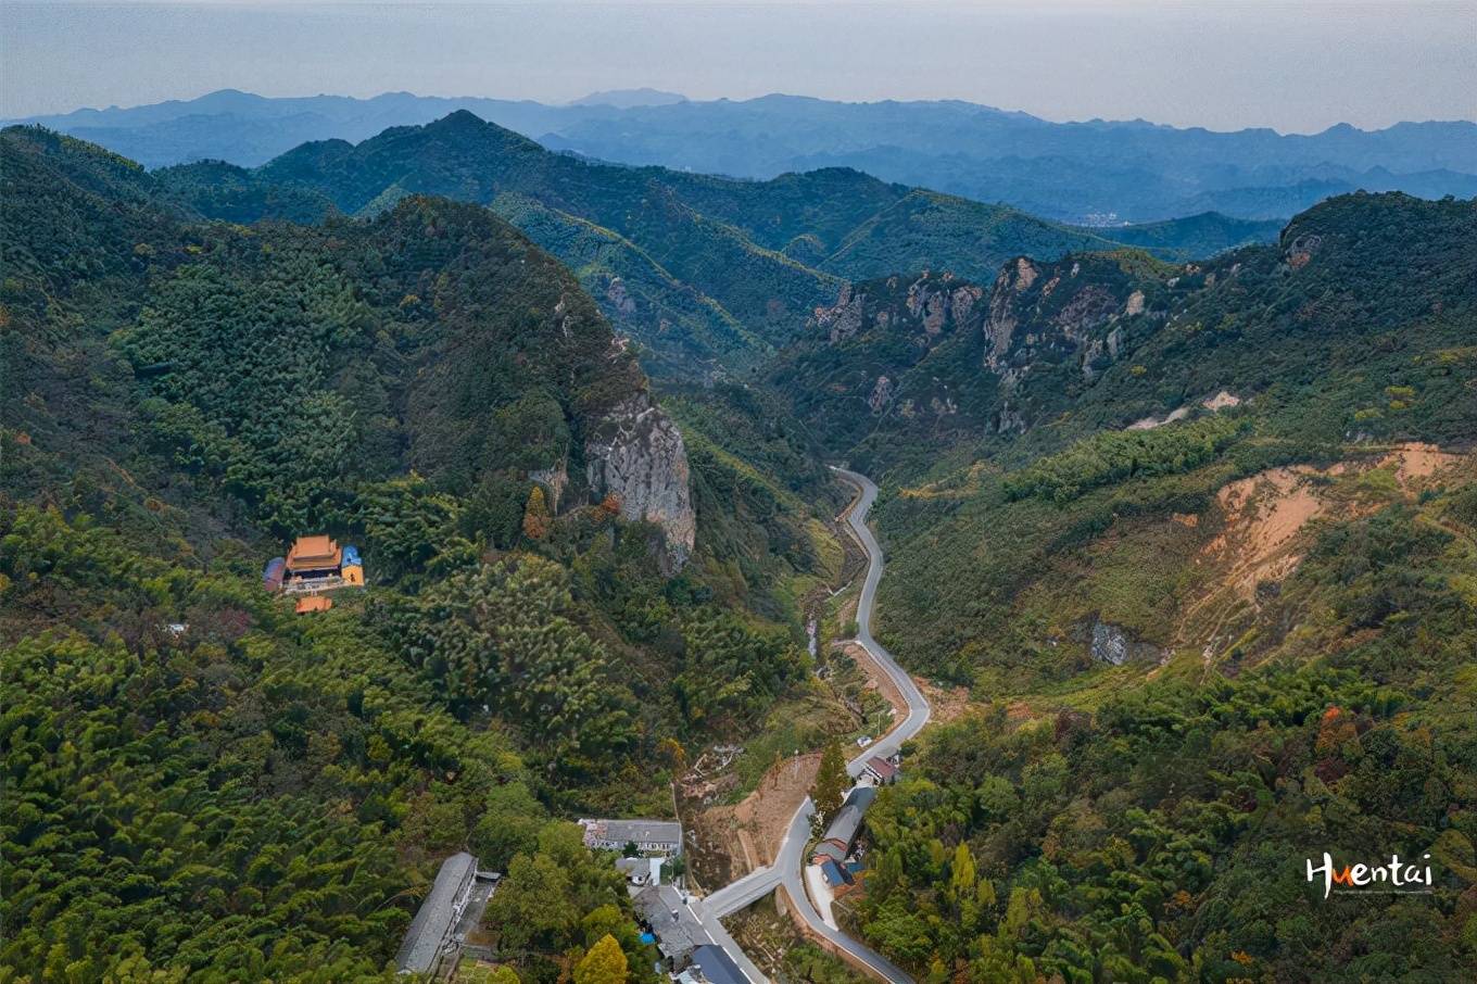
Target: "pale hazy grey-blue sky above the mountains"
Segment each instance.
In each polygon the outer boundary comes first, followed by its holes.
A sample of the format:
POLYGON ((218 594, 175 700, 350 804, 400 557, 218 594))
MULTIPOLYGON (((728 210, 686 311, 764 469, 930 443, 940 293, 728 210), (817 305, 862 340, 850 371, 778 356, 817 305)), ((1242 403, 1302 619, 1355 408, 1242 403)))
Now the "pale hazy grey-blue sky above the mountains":
POLYGON ((954 98, 1219 130, 1474 120, 1477 0, 0 0, 0 115, 12 118, 226 87, 563 102, 635 86, 954 98))

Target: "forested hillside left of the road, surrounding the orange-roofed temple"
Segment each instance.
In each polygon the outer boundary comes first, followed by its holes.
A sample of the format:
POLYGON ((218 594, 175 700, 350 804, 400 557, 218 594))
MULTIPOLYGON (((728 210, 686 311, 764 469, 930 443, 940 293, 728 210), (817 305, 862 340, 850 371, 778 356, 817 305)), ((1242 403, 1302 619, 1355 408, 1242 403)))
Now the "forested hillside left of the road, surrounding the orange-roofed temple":
POLYGON ((387 978, 465 847, 527 980, 606 934, 647 980, 558 817, 666 814, 676 749, 811 686, 806 439, 678 426, 483 208, 207 225, 69 137, 0 154, 4 978, 387 978), (261 567, 310 532, 369 587, 294 616, 261 567))

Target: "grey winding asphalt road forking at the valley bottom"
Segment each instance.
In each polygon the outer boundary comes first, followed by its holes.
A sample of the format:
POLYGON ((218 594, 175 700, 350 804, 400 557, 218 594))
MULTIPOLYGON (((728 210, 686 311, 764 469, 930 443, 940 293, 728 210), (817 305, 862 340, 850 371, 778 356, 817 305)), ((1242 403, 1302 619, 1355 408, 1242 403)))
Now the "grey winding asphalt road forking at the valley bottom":
MULTIPOLYGON (((928 699, 913 683, 913 678, 898 666, 897 660, 892 659, 892 653, 882 647, 877 640, 871 637, 871 609, 877 600, 877 584, 882 581, 882 548, 877 545, 876 536, 867 527, 867 513, 871 510, 871 504, 877 499, 877 486, 873 485, 871 479, 855 471, 846 471, 845 468, 836 468, 837 474, 855 485, 861 495, 851 507, 851 514, 848 516, 848 523, 851 525, 852 533, 861 542, 863 550, 867 551, 867 578, 861 584, 861 598, 857 601, 857 643, 871 656, 871 659, 882 668, 892 683, 897 684, 898 693, 902 694, 902 700, 908 706, 908 714, 902 721, 897 724, 885 737, 873 742, 867 749, 861 752, 846 765, 846 771, 852 777, 860 776, 867 759, 874 755, 888 756, 895 754, 902 743, 910 737, 917 734, 925 724, 928 724, 932 709, 929 708, 928 699)), ((899 966, 892 963, 880 953, 871 950, 870 947, 858 943, 845 932, 832 929, 821 919, 821 915, 815 912, 815 906, 811 904, 809 895, 805 894, 803 870, 805 870, 805 845, 811 836, 811 814, 815 807, 806 799, 801 804, 801 808, 795 813, 795 819, 790 820, 790 829, 784 835, 784 841, 780 844, 778 855, 774 864, 768 867, 759 867, 749 875, 740 878, 736 882, 725 885, 712 895, 703 900, 694 900, 691 904, 693 912, 707 928, 707 932, 713 940, 722 940, 722 946, 728 950, 730 956, 743 968, 744 974, 750 981, 759 984, 764 981, 764 975, 753 965, 752 960, 733 943, 733 937, 722 928, 719 918, 734 913, 744 906, 749 906, 778 886, 784 886, 790 897, 790 903, 795 906, 795 912, 799 913, 801 919, 809 926, 811 932, 818 937, 829 940, 837 949, 845 950, 854 960, 870 968, 877 977, 885 981, 892 981, 894 984, 913 984, 913 978, 908 977, 899 966), (719 935, 721 934, 721 935, 719 935)))

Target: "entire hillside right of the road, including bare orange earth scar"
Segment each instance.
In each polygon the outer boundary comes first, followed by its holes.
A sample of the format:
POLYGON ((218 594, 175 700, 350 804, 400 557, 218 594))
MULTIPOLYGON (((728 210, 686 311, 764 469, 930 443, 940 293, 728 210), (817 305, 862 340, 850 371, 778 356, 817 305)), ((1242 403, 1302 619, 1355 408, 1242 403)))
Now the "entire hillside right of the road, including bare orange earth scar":
POLYGON ((976 700, 868 816, 871 943, 920 980, 1477 965, 1474 233, 1360 195, 1208 264, 1007 264, 1009 417, 870 445, 880 635, 976 700), (1325 901, 1323 851, 1434 891, 1325 901))

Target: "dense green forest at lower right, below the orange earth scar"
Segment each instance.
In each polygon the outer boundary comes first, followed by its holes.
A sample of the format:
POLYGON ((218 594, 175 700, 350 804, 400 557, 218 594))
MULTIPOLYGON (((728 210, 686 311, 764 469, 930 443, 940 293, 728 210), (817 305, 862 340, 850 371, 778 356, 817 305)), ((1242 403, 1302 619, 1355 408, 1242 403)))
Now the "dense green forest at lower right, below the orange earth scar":
POLYGON ((1326 615, 1244 672, 1171 662, 935 731, 868 816, 866 937, 931 981, 1462 980, 1477 962, 1471 477, 1317 536, 1261 623, 1326 615), (1323 851, 1430 854, 1434 894, 1325 901, 1304 881, 1323 851))

